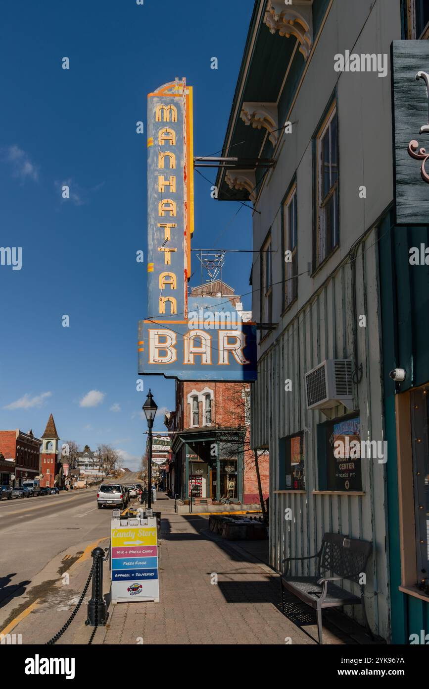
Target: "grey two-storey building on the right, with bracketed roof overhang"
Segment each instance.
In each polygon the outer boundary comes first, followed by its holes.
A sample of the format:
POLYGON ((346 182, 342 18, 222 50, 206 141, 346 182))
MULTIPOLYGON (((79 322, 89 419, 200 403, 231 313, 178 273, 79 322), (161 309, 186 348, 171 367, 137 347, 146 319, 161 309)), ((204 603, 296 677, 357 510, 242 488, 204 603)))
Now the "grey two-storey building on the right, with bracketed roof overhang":
MULTIPOLYGON (((393 451, 399 421, 387 373, 397 361, 398 316, 395 311, 389 320, 388 311, 399 299, 404 313, 409 308, 421 318, 427 267, 420 301, 405 303, 389 280, 401 238, 427 239, 426 228, 411 238, 410 228, 395 231, 392 223, 390 54, 392 41, 427 37, 428 8, 419 0, 285 5, 254 4, 223 146, 223 156, 233 148, 254 168, 221 169, 216 183, 219 200, 252 202, 257 211, 251 283, 261 329, 252 446, 270 449, 270 560, 283 570, 285 557, 316 553, 328 531, 371 542, 364 588, 369 624, 382 638, 404 643, 410 619, 428 630, 429 599, 426 571, 417 573, 423 588, 416 588, 415 553, 410 571, 403 564, 400 573, 399 532, 405 533, 411 507, 401 526, 393 451), (399 636, 392 635, 392 613, 402 620, 399 636)), ((399 323, 401 337, 409 338, 406 319, 399 323)), ((417 341, 408 342, 401 366, 412 366, 417 341)), ((426 342, 419 346, 427 356, 426 342)), ((428 377, 422 365, 421 396, 428 377)), ((408 398, 404 404, 409 410, 408 398)), ((427 473, 427 454, 417 463, 427 473)), ((407 471, 409 484, 410 466, 407 471)), ((412 533, 426 570, 421 483, 421 519, 412 533)), ((297 565, 294 573, 310 575, 312 565, 297 565)), ((348 614, 363 621, 360 610, 348 614)))

